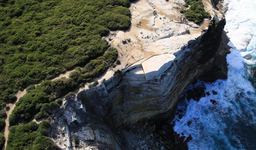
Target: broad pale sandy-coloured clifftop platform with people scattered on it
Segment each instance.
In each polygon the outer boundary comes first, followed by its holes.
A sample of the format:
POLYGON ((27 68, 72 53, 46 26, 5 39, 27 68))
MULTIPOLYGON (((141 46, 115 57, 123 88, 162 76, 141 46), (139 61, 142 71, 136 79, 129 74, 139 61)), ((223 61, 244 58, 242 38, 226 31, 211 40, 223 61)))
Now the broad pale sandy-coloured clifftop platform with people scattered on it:
POLYGON ((140 0, 132 3, 130 30, 113 33, 115 37, 111 41, 111 45, 118 50, 123 67, 145 57, 177 52, 207 29, 209 19, 205 19, 201 27, 188 20, 181 23, 184 16, 180 9, 188 9, 184 4, 182 0, 140 0), (128 38, 130 42, 122 43, 122 40, 128 38))

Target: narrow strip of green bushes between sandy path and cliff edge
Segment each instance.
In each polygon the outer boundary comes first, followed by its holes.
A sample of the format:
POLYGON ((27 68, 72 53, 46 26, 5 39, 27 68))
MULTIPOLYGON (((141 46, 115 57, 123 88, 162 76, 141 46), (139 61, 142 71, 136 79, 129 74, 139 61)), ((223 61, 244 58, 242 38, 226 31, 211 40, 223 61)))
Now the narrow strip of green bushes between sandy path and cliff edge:
POLYGON ((36 87, 29 86, 27 94, 19 99, 9 117, 10 125, 29 121, 33 117, 36 120, 49 117, 52 111, 60 106, 56 101, 58 97, 70 92, 80 83, 90 81, 102 74, 114 63, 116 57, 117 50, 109 48, 105 54, 91 60, 84 68, 77 67, 70 73, 70 78, 62 77, 54 81, 44 81, 36 87))

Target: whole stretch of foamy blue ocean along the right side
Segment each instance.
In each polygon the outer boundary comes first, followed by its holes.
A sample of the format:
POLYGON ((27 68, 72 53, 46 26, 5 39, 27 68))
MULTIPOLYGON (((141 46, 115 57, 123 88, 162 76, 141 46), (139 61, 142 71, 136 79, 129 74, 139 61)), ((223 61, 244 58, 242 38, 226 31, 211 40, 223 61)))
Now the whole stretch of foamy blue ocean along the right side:
POLYGON ((174 119, 174 131, 192 136, 191 150, 256 150, 256 0, 224 0, 224 4, 229 8, 224 30, 232 47, 227 55, 228 79, 191 85, 204 84, 211 95, 198 102, 185 99, 178 106, 182 119, 178 115, 174 119), (244 59, 246 55, 252 59, 244 59))

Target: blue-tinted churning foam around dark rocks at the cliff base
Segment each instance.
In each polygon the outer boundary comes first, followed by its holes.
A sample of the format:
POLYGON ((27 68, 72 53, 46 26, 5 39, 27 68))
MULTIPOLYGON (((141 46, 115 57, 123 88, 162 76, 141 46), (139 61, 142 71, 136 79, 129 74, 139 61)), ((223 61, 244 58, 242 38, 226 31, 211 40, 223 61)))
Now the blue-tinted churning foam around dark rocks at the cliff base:
MULTIPOLYGON (((174 131, 184 133, 185 136, 192 135, 192 140, 188 143, 189 149, 243 149, 243 145, 233 145, 232 141, 240 142, 235 134, 227 133, 231 128, 229 123, 236 124, 237 119, 242 117, 243 113, 250 113, 251 108, 242 108, 248 105, 247 99, 254 100, 250 103, 256 106, 255 92, 251 83, 246 79, 246 71, 243 67, 242 56, 237 50, 232 49, 231 54, 227 56, 230 63, 228 79, 218 80, 213 84, 204 83, 206 92, 211 93, 200 99, 199 102, 185 100, 178 109, 183 109, 183 118, 175 117, 174 131), (214 95, 212 90, 218 94, 214 95), (250 94, 247 94, 250 93, 250 94), (237 96, 243 95, 240 102, 237 102, 237 96), (217 104, 212 105, 210 99, 216 100, 217 104), (188 126, 187 122, 192 121, 188 126), (228 124, 227 124, 228 121, 228 124)), ((199 82, 198 84, 202 84, 199 82)), ((252 114, 255 116, 255 114, 252 114)))

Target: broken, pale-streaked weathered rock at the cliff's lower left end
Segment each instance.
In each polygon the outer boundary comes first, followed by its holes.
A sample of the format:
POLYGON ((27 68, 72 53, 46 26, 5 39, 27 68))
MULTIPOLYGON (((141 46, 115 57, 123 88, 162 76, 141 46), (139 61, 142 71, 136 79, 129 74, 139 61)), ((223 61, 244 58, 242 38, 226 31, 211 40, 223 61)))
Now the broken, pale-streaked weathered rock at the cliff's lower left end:
POLYGON ((75 95, 64 99, 54 116, 51 137, 61 149, 123 149, 116 130, 87 112, 75 95))

